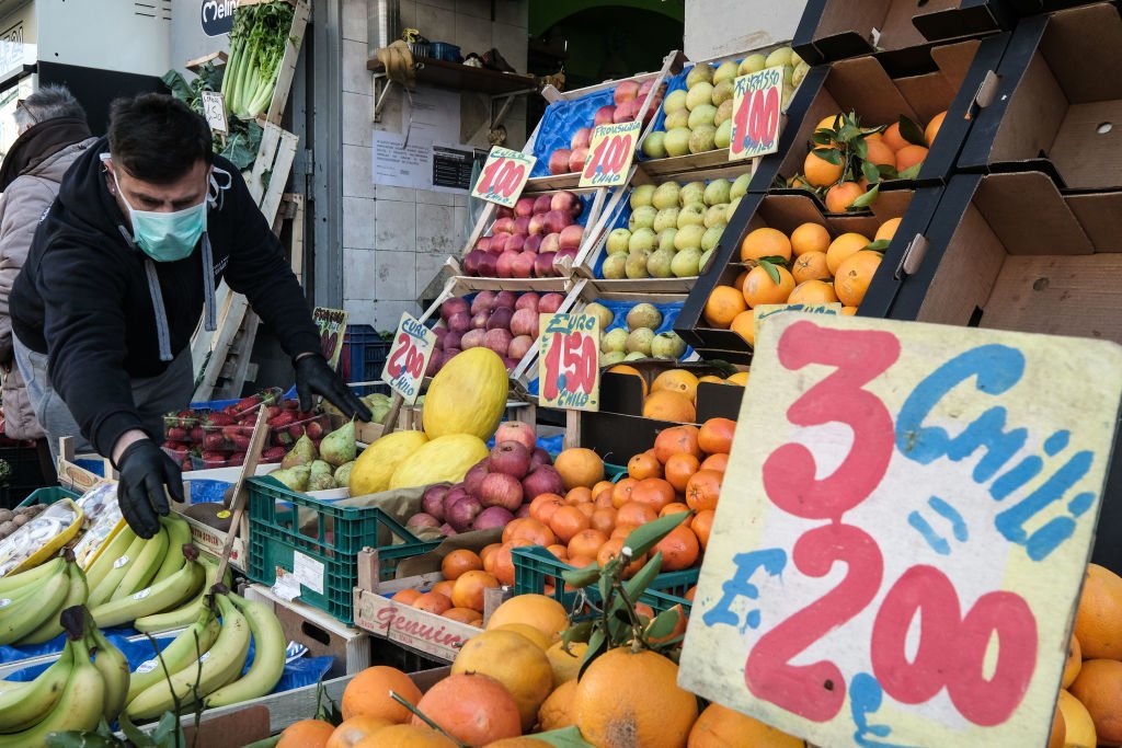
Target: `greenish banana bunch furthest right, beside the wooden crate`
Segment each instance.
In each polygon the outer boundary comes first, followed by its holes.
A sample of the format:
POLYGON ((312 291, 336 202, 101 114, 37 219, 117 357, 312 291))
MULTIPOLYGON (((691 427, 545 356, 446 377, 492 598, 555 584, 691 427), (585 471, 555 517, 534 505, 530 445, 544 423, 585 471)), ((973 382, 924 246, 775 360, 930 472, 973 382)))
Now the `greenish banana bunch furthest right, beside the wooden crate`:
POLYGON ((280 680, 285 637, 273 611, 224 585, 215 585, 214 594, 206 598, 213 600, 221 620, 204 603, 195 620, 157 657, 137 667, 126 699, 129 720, 156 719, 174 710, 176 702, 187 709, 200 698, 209 708, 256 699, 280 680), (254 659, 246 669, 250 638, 254 659))

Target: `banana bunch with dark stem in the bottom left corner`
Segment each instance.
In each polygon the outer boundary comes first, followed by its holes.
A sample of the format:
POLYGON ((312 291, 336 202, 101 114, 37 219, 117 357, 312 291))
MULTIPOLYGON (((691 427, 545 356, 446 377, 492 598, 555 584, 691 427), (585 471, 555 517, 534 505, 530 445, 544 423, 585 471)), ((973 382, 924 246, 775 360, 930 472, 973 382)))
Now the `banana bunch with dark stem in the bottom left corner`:
POLYGON ((93 730, 113 720, 129 691, 129 664, 93 626, 84 606, 59 616, 66 646, 34 681, 0 691, 0 748, 46 745, 64 730, 93 730))

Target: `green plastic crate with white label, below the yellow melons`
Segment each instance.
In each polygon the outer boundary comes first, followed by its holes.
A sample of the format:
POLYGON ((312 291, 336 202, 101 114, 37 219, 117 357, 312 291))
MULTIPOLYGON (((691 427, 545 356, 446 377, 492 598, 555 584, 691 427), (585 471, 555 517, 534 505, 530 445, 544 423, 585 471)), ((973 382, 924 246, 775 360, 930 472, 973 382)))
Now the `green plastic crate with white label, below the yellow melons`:
POLYGON ((249 479, 249 578, 272 587, 277 566, 294 571, 298 552, 323 565, 323 592, 302 585, 300 601, 344 624, 353 621, 359 551, 376 548, 381 579, 390 580, 398 562, 438 545, 419 539, 377 507, 337 507, 267 475, 249 479))

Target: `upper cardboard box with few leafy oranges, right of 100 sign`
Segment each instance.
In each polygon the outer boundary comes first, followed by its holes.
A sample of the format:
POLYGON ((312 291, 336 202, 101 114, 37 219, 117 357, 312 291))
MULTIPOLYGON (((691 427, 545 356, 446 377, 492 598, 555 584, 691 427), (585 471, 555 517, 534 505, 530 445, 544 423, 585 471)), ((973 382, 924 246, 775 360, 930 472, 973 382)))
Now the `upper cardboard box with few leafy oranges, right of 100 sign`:
POLYGON ((1005 31, 931 45, 917 50, 916 59, 899 65, 865 56, 812 67, 791 99, 779 153, 763 157, 748 191, 767 192, 776 177, 801 173, 818 123, 849 111, 867 127, 891 124, 903 114, 921 128, 946 111, 939 137, 916 179, 893 181, 908 187, 946 182, 974 122, 978 91, 983 82, 994 80, 1010 37, 1005 31))

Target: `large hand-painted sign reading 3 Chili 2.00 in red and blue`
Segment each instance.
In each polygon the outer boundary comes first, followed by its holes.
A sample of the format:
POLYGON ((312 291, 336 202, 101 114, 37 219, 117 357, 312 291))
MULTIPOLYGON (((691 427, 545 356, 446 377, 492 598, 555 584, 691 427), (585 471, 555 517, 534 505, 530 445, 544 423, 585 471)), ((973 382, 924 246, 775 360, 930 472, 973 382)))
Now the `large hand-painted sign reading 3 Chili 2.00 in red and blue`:
POLYGON ((1114 343, 774 315, 680 685, 821 746, 1047 745, 1120 401, 1114 343))

